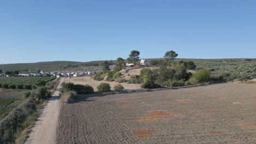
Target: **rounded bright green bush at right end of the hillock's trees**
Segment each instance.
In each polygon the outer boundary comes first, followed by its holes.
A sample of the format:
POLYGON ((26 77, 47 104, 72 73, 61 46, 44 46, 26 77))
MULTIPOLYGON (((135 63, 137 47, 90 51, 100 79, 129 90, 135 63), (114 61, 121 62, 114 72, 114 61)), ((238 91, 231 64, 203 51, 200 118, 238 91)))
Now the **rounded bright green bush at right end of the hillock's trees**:
POLYGON ((210 70, 201 69, 197 73, 193 74, 189 79, 189 82, 196 85, 198 83, 203 83, 211 80, 210 70))

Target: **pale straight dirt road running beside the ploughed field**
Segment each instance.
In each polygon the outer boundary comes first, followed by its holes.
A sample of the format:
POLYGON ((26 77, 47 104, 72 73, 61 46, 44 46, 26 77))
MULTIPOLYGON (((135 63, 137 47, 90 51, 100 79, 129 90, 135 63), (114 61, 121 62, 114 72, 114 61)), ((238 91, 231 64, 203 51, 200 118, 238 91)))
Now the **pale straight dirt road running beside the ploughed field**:
POLYGON ((32 128, 26 144, 56 143, 56 128, 61 108, 59 100, 60 87, 60 85, 57 86, 53 97, 49 99, 48 103, 44 107, 43 112, 32 128))

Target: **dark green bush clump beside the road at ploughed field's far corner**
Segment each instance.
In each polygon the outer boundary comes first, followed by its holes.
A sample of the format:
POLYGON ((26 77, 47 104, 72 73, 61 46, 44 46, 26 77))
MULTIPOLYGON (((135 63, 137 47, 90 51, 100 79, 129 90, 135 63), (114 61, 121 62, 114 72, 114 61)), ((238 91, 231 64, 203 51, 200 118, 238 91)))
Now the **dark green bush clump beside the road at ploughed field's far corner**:
POLYGON ((94 88, 89 85, 74 85, 74 83, 71 82, 62 82, 61 92, 65 93, 67 91, 75 91, 77 94, 88 94, 93 93, 94 88))

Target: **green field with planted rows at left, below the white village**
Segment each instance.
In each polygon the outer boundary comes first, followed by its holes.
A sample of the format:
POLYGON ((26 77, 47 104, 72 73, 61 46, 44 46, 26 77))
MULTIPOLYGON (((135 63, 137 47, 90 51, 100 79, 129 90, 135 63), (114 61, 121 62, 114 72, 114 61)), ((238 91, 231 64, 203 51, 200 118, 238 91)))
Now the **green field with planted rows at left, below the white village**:
POLYGON ((31 89, 37 80, 48 82, 54 79, 55 77, 0 77, 0 88, 31 89))

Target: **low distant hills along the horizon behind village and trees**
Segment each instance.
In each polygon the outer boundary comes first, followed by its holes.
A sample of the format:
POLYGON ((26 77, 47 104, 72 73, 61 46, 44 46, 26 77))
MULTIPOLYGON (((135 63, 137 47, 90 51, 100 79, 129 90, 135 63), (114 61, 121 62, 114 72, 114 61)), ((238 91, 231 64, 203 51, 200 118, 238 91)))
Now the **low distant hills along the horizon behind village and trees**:
MULTIPOLYGON (((158 58, 146 58, 147 61, 156 60, 158 58)), ((186 59, 177 58, 176 61, 193 61, 197 68, 223 68, 235 65, 247 65, 254 67, 256 59, 253 58, 228 58, 228 59, 186 59), (224 66, 225 65, 225 66, 224 66)), ((17 63, 17 64, 0 64, 0 69, 6 70, 35 70, 43 71, 98 71, 99 65, 103 61, 91 62, 70 62, 70 61, 54 61, 54 62, 38 62, 38 63, 17 63)), ((115 61, 109 61, 114 64, 115 61)))

